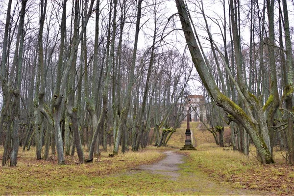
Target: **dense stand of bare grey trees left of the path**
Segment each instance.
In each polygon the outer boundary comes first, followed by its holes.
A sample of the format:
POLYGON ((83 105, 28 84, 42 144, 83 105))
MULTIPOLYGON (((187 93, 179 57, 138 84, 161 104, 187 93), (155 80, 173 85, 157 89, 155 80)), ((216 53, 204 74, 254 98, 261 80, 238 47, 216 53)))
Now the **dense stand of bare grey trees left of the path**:
POLYGON ((99 146, 113 145, 116 155, 119 146, 161 145, 161 128, 182 120, 179 103, 192 74, 185 52, 168 42, 166 9, 162 0, 8 0, 1 12, 2 166, 16 166, 19 146, 64 164, 75 150, 84 163, 99 146), (151 40, 145 47, 139 34, 151 40))

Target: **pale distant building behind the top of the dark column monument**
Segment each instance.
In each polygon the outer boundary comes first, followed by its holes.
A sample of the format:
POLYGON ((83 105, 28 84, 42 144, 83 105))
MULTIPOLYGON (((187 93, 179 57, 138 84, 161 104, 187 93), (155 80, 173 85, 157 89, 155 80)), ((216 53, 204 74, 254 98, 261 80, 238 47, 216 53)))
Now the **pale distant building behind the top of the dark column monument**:
POLYGON ((184 115, 185 121, 187 121, 187 111, 191 107, 190 110, 190 121, 197 122, 206 120, 206 110, 205 110, 205 98, 203 95, 188 95, 185 109, 184 109, 184 115))

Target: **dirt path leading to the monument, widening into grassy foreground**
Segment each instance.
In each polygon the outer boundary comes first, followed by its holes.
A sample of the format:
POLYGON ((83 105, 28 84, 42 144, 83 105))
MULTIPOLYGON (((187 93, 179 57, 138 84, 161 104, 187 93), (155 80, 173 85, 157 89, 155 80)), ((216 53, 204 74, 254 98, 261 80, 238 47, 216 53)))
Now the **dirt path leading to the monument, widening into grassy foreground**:
MULTIPOLYGON (((158 163, 140 166, 130 171, 128 175, 133 176, 135 180, 136 176, 149 176, 146 178, 153 178, 153 181, 160 182, 166 192, 158 191, 157 186, 152 185, 152 180, 148 180, 146 183, 150 183, 154 191, 141 193, 138 189, 139 195, 162 195, 162 193, 164 195, 262 195, 238 187, 233 188, 226 182, 213 181, 200 170, 191 172, 191 168, 186 164, 185 155, 175 151, 166 151, 164 154, 166 157, 158 163)), ((140 180, 145 181, 145 178, 140 180)), ((136 189, 136 187, 132 188, 136 189)))

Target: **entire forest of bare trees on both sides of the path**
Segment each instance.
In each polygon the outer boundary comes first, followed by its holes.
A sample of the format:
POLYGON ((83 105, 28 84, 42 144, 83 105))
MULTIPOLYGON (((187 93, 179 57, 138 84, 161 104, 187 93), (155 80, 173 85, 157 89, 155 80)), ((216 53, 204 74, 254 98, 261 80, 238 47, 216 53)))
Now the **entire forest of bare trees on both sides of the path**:
POLYGON ((207 127, 230 126, 234 150, 252 142, 261 163, 278 149, 294 164, 293 1, 0 4, 2 166, 17 165, 19 147, 65 164, 75 151, 85 163, 109 146, 166 145, 193 84, 207 127))

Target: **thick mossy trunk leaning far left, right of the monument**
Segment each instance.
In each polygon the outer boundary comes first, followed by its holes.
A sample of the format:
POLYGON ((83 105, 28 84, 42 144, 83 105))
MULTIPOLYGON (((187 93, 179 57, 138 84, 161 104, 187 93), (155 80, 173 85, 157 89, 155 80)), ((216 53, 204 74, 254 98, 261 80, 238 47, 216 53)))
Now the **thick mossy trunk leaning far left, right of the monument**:
POLYGON ((187 13, 187 7, 184 1, 176 0, 176 6, 178 9, 182 28, 184 30, 185 39, 188 44, 190 54, 192 56, 192 60, 199 74, 199 77, 203 82, 204 86, 206 87, 207 91, 209 92, 210 96, 214 99, 218 106, 220 106, 225 112, 230 114, 230 116, 235 122, 241 124, 245 128, 246 132, 253 140, 257 148, 257 151, 261 155, 261 162, 263 164, 273 163, 271 151, 269 149, 270 146, 268 146, 265 142, 265 140, 269 140, 269 136, 266 137, 266 135, 264 134, 265 129, 267 131, 267 125, 265 117, 262 117, 263 111, 262 107, 259 104, 259 101, 251 94, 243 93, 240 87, 236 86, 237 88, 239 87, 239 93, 242 93, 241 95, 244 96, 243 99, 244 103, 246 104, 245 109, 247 110, 246 112, 248 112, 248 114, 246 114, 244 110, 242 110, 238 105, 236 105, 233 101, 231 101, 228 97, 226 97, 220 92, 213 77, 209 73, 207 65, 205 64, 201 52, 196 43, 195 35, 191 27, 190 19, 187 13), (249 107, 249 102, 254 108, 257 109, 257 112, 259 112, 259 114, 262 115, 258 119, 258 121, 252 115, 252 111, 249 107), (260 132, 262 134, 260 134, 260 132))

